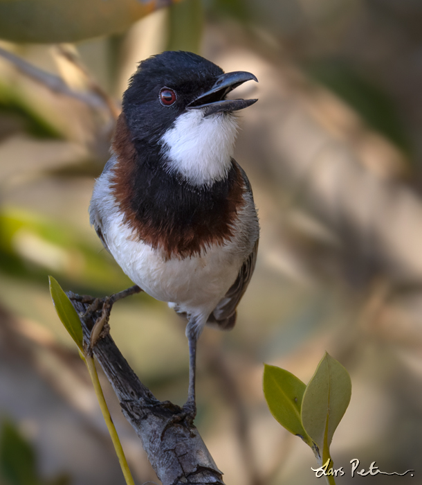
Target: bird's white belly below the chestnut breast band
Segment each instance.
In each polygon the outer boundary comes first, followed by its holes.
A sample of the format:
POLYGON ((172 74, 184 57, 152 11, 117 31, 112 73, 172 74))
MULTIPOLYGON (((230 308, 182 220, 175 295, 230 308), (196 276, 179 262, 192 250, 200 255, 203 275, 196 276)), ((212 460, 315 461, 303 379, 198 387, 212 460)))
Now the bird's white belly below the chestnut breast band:
POLYGON ((119 222, 107 229, 107 245, 118 265, 152 297, 176 303, 191 315, 210 315, 247 256, 226 245, 211 246, 202 256, 165 259, 160 251, 133 240, 131 229, 119 222))

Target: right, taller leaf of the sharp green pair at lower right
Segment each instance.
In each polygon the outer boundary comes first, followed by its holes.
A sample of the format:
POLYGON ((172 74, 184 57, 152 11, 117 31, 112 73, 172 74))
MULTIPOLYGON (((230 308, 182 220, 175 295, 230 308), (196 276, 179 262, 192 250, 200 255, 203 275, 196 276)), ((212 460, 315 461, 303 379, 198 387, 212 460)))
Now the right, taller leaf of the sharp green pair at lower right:
POLYGON ((329 457, 329 446, 351 397, 347 370, 327 352, 304 391, 302 424, 322 450, 322 461, 329 457))

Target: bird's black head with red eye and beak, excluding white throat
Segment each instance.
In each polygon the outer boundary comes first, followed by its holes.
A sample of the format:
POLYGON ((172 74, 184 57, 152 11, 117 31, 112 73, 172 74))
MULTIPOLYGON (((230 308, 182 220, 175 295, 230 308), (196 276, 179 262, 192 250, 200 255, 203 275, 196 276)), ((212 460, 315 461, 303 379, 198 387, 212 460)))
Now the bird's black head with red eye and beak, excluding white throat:
POLYGON ((191 52, 167 51, 143 60, 123 96, 131 134, 157 141, 183 112, 201 109, 210 116, 249 106, 256 100, 225 100, 246 80, 257 79, 246 72, 224 74, 216 64, 191 52))

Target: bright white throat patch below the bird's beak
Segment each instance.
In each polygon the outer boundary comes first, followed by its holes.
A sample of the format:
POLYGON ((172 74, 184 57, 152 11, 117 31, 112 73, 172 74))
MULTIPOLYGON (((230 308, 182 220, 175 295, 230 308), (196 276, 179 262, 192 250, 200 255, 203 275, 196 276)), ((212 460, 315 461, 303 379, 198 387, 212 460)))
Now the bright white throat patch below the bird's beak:
POLYGON ((226 177, 236 135, 235 116, 219 113, 204 118, 201 109, 192 109, 177 118, 160 142, 169 170, 201 186, 226 177))

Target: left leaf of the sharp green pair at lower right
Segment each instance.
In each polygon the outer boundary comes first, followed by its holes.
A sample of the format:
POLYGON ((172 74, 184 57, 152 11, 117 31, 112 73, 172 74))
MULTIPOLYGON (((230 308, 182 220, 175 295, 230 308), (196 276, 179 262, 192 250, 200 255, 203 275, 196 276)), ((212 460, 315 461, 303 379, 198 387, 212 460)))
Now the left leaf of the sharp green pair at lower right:
POLYGON ((264 396, 275 419, 292 434, 301 436, 309 446, 312 440, 306 434, 300 419, 300 407, 306 386, 292 373, 264 364, 264 396))

